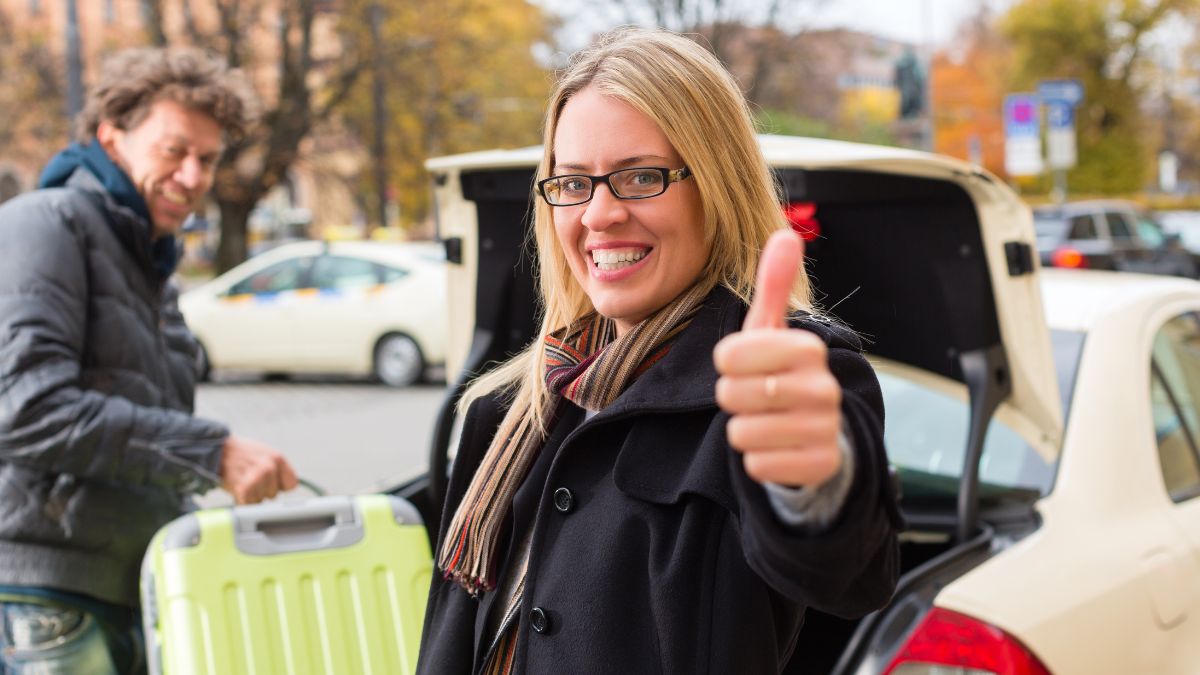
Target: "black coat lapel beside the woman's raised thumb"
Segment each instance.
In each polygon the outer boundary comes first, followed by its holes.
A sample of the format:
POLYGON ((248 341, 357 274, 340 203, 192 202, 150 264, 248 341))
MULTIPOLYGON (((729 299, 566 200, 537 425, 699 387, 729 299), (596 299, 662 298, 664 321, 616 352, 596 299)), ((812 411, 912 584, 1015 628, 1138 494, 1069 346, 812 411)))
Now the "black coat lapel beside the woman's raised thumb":
POLYGON ((691 324, 667 356, 638 377, 595 422, 630 412, 671 412, 716 406, 716 366, 713 347, 739 330, 745 305, 725 286, 704 298, 691 324))

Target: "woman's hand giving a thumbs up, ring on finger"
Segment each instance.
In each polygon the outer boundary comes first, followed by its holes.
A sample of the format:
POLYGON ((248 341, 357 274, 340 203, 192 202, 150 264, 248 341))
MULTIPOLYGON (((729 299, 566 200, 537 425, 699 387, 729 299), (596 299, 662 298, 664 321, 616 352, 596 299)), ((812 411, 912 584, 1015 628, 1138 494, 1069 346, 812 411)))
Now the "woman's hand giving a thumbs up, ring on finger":
POLYGON ((713 360, 721 376, 716 402, 732 416, 726 434, 746 473, 758 483, 815 488, 841 467, 841 387, 824 341, 787 327, 803 256, 791 231, 772 235, 745 323, 716 345, 713 360))

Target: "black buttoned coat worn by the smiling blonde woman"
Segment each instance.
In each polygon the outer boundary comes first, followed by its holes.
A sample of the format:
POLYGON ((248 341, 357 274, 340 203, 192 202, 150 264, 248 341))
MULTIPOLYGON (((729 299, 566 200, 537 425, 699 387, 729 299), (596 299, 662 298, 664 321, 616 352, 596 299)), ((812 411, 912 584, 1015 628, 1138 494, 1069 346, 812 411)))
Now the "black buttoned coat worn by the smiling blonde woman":
MULTIPOLYGON (((740 329, 745 305, 715 289, 666 357, 584 420, 560 404, 514 500, 532 532, 515 673, 778 674, 812 607, 854 617, 882 607, 899 571, 899 514, 887 478, 883 401, 854 334, 805 318, 842 387, 854 477, 834 524, 784 525, 725 435, 713 347, 740 329), (540 631, 538 628, 541 628, 540 631)), ((451 471, 450 521, 503 418, 472 405, 451 471)), ((445 525, 439 533, 445 537, 445 525)), ((518 548, 502 540, 500 579, 518 548)), ((500 593, 479 601, 436 571, 418 671, 478 671, 500 593)))

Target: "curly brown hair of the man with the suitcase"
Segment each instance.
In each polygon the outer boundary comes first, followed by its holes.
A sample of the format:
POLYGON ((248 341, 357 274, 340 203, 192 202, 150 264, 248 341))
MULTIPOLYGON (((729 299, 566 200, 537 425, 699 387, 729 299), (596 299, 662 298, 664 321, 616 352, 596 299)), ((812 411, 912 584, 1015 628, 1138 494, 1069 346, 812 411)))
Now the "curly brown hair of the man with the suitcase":
POLYGON ((192 47, 124 49, 104 60, 100 79, 76 119, 76 138, 89 143, 101 121, 136 127, 158 101, 209 114, 226 138, 245 137, 257 121, 258 97, 241 72, 192 47))

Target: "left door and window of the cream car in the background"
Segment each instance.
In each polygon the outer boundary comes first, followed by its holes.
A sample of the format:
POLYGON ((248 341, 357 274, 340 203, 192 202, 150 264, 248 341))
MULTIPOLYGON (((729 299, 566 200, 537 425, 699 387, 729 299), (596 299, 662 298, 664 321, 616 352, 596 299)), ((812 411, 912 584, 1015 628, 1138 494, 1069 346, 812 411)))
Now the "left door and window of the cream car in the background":
POLYGON ((289 258, 233 283, 206 322, 211 362, 218 368, 287 370, 295 338, 293 310, 311 265, 311 256, 289 258))

